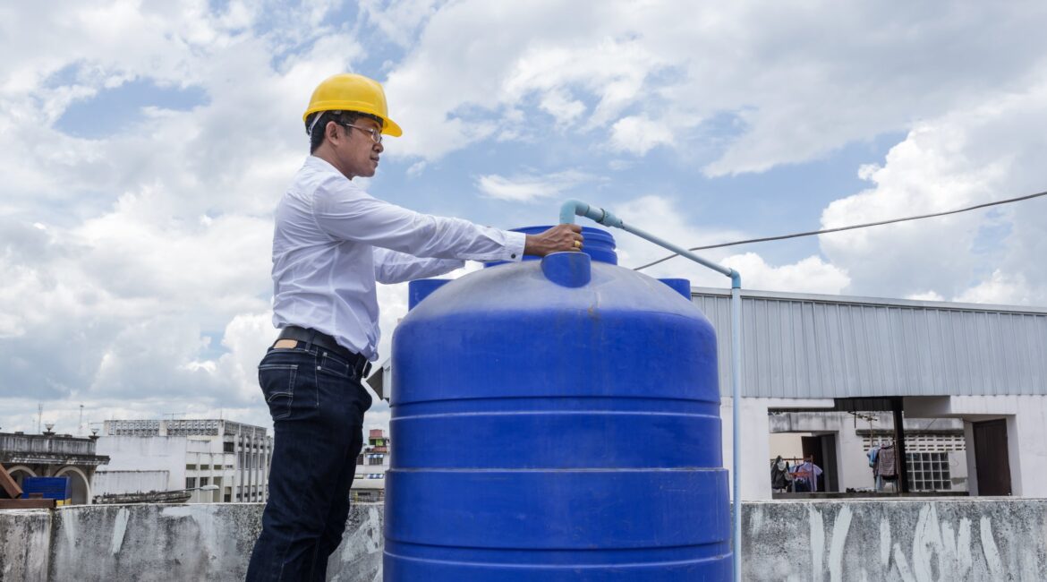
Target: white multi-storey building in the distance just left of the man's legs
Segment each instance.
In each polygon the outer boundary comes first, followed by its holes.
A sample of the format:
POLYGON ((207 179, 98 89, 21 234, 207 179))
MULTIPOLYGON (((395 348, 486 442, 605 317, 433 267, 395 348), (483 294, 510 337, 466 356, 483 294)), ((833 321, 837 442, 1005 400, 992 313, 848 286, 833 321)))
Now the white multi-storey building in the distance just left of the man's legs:
POLYGON ((272 457, 266 432, 216 419, 106 421, 98 450, 110 463, 95 493, 188 491, 190 502, 263 502, 272 457))

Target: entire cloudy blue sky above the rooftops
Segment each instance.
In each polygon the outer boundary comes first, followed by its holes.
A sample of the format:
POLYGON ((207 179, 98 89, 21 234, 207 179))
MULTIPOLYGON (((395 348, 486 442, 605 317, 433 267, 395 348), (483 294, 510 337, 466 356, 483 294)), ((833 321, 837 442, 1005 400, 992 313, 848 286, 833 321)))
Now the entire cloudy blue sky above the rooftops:
MULTIPOLYGON (((504 228, 579 198, 695 246, 1047 189, 1045 26, 1040 1, 7 2, 0 430, 38 403, 60 432, 81 405, 270 426, 271 210, 330 74, 381 81, 404 129, 376 197, 504 228)), ((621 234, 624 266, 664 254, 621 234)), ((708 256, 752 289, 1045 305, 1045 234, 1038 199, 708 256)), ((405 289, 380 297, 387 353, 405 289)))

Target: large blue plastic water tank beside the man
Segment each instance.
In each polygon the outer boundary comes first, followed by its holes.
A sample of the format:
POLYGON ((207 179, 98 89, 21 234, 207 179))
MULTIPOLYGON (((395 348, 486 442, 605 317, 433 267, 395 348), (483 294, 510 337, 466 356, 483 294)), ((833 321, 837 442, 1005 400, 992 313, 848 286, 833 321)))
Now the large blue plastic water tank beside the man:
POLYGON ((712 326, 600 233, 397 328, 386 582, 730 579, 712 326))

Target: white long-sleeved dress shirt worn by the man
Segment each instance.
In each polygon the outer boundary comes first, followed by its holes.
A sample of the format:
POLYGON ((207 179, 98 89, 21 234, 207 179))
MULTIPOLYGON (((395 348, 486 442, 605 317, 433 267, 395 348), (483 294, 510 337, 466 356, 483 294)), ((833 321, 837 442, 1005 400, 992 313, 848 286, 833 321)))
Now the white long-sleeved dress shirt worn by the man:
POLYGON ((272 239, 276 328, 299 326, 378 358, 375 282, 444 274, 471 261, 519 261, 522 232, 433 217, 375 199, 309 156, 276 206, 272 239))

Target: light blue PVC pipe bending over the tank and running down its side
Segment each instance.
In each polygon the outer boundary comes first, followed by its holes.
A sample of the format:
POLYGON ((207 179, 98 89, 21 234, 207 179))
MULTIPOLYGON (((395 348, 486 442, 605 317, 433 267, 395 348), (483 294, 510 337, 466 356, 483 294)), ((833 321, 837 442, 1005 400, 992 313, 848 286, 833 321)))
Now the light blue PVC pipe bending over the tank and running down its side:
POLYGON ((575 215, 592 219, 605 226, 621 228, 627 232, 646 239, 655 245, 667 248, 681 256, 708 267, 718 273, 731 277, 731 428, 733 442, 731 450, 734 453, 732 468, 732 485, 734 495, 734 511, 732 512, 732 569, 735 582, 741 582, 741 274, 734 269, 711 263, 693 252, 678 247, 639 228, 626 225, 622 219, 604 210, 582 202, 567 200, 560 206, 560 224, 574 224, 575 215))

